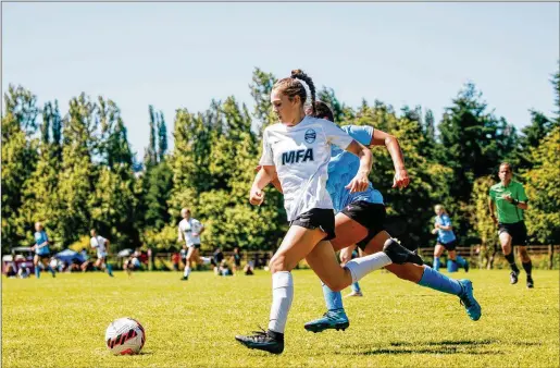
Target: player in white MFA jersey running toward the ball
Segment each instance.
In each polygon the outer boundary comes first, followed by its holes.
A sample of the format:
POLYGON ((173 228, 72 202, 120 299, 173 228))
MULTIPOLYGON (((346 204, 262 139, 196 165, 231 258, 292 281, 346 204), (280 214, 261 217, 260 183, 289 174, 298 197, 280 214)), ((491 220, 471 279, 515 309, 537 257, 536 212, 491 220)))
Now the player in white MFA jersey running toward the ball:
POLYGON ((281 122, 264 130, 259 162, 263 170, 257 174, 249 195, 252 205, 261 205, 264 199, 262 189, 277 177, 284 189, 284 207, 290 222, 286 236, 270 261, 273 302, 269 330, 236 336, 249 348, 273 354, 284 351, 284 330, 294 298, 290 271, 312 250, 319 250, 316 260, 320 262, 315 267, 322 274, 332 274, 340 287, 391 262, 422 263, 415 254, 396 242, 388 242, 384 252, 350 260, 344 268, 338 265, 328 243, 335 237, 335 213, 326 191, 331 146, 339 146, 360 159, 360 170, 346 185, 351 193, 368 188, 372 154, 334 123, 307 116, 306 110, 313 114, 314 99, 313 82, 299 70, 276 82, 271 102, 281 122))

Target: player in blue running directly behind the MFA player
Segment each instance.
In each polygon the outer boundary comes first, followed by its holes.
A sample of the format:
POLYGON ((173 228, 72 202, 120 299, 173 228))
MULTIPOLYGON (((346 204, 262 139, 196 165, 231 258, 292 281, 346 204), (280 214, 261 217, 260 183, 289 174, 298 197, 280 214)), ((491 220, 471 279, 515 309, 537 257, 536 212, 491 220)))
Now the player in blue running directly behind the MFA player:
MULTIPOLYGON (((315 111, 318 118, 334 121, 333 112, 328 105, 318 101, 315 103, 315 111)), ((349 125, 343 126, 343 130, 348 132, 358 142, 368 146, 385 145, 395 164, 393 187, 405 187, 409 184, 402 154, 395 137, 382 131, 374 131, 371 126, 349 125)), ((340 185, 340 183, 344 183, 345 177, 351 175, 352 170, 356 170, 356 165, 352 162, 347 162, 347 160, 351 160, 351 157, 334 147, 328 164, 327 189, 337 214, 335 217, 336 237, 331 241, 331 244, 335 250, 343 249, 343 252, 349 252, 349 254, 351 254, 357 244, 364 250, 364 254, 373 254, 378 252, 377 249, 382 249, 384 243, 390 238, 390 235, 383 228, 385 221, 383 196, 373 188, 371 183, 369 183, 369 188, 365 192, 360 193, 349 193, 344 185, 340 185)), ((273 184, 282 191, 277 181, 274 181, 273 184)), ((315 249, 306 258, 312 268, 316 267, 318 262, 314 253, 315 249)), ((472 320, 481 318, 481 306, 474 299, 471 281, 449 279, 427 266, 393 263, 385 268, 400 279, 459 296, 469 317, 472 320)), ((319 272, 318 275, 325 280, 319 272)), ((323 318, 306 323, 307 330, 321 332, 325 329, 346 329, 349 326, 339 290, 339 284, 332 283, 328 285, 323 283, 327 312, 323 318)))

